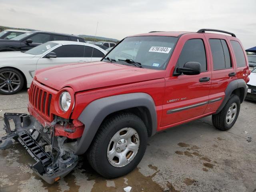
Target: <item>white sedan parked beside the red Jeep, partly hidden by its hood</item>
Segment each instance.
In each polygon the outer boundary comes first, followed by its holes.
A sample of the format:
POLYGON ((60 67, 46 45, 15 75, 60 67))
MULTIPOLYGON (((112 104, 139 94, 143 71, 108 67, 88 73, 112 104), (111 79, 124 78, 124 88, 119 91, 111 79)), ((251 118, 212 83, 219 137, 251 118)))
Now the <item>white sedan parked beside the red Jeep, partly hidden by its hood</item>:
POLYGON ((0 94, 30 87, 36 70, 68 63, 99 61, 106 51, 93 44, 50 41, 26 52, 0 52, 0 94))

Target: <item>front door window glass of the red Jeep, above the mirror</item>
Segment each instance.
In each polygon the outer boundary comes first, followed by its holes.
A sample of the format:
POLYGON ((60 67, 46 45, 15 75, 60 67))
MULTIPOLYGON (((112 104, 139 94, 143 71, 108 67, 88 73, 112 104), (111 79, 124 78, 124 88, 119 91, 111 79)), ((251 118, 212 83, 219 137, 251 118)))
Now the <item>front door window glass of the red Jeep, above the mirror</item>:
POLYGON ((202 39, 190 39, 184 44, 177 67, 184 67, 186 62, 198 62, 201 64, 201 71, 206 71, 206 54, 202 39))

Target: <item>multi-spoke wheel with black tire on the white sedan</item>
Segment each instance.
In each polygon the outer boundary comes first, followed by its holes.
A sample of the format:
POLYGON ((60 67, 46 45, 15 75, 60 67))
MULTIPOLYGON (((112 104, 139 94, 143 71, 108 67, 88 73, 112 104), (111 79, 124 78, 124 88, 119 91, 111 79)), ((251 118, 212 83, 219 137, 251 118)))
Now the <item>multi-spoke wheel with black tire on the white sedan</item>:
POLYGON ((0 69, 0 94, 10 95, 22 90, 24 78, 13 68, 0 69))

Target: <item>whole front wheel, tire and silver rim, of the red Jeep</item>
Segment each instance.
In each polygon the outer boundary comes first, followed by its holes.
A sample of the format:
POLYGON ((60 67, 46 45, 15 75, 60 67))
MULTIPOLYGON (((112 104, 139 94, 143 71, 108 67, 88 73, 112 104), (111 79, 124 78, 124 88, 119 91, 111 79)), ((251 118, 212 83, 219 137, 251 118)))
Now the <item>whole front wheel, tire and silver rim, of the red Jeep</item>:
POLYGON ((131 172, 141 161, 147 146, 144 122, 132 113, 105 120, 87 152, 90 165, 105 178, 131 172))

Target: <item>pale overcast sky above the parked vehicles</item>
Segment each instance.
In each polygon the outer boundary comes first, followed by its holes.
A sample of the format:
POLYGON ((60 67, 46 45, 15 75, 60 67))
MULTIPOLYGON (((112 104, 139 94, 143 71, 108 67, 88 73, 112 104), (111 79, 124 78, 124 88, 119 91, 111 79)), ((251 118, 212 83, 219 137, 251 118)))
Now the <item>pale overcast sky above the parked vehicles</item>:
POLYGON ((256 46, 256 0, 0 0, 0 25, 122 38, 153 30, 230 31, 256 46))

